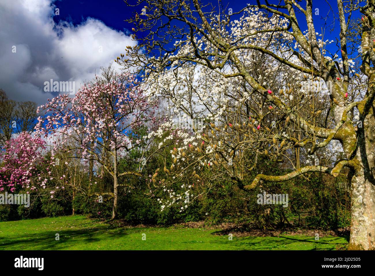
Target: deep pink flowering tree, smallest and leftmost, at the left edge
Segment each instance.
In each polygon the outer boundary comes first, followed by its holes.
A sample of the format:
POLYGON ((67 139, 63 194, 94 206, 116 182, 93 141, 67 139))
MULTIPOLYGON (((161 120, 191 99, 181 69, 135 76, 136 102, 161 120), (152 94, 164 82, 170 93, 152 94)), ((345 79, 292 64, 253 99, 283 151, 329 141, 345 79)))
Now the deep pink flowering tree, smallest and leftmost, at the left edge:
POLYGON ((1 159, 3 166, 0 168, 0 191, 9 187, 14 192, 17 187, 27 189, 27 192, 45 188, 47 179, 42 179, 38 166, 44 164, 42 156, 46 149, 45 141, 39 137, 32 137, 27 132, 22 132, 17 138, 6 141, 1 159))

